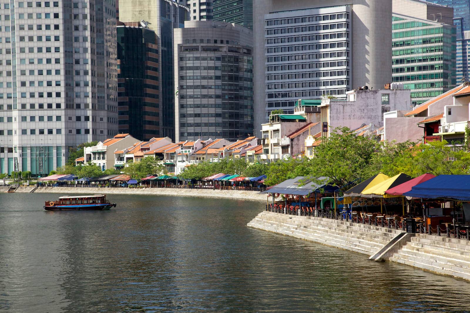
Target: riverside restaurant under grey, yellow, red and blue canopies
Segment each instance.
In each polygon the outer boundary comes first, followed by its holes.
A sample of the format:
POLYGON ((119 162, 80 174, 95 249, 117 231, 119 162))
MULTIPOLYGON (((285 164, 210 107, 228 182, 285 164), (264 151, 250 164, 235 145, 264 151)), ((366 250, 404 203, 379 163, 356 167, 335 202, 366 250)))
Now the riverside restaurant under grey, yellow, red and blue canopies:
POLYGON ((266 210, 470 240, 470 175, 379 173, 344 192, 327 181, 300 176, 268 187, 266 210))

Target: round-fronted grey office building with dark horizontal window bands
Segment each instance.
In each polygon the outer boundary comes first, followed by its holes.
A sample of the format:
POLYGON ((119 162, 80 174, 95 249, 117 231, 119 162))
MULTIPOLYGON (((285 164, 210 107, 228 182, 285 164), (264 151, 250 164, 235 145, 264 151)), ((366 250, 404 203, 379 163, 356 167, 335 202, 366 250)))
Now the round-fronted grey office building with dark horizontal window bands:
POLYGON ((253 135, 252 33, 211 21, 174 30, 176 140, 253 135))

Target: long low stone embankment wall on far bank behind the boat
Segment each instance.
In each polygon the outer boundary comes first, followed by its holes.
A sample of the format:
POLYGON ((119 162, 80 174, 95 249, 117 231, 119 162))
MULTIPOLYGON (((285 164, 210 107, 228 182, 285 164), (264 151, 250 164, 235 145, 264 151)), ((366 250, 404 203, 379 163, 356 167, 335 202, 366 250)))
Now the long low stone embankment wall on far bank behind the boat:
POLYGON ((233 198, 264 201, 266 195, 258 191, 212 190, 212 189, 178 189, 178 188, 82 188, 82 187, 39 187, 34 192, 55 192, 63 195, 74 194, 141 194, 162 196, 187 196, 209 198, 233 198))

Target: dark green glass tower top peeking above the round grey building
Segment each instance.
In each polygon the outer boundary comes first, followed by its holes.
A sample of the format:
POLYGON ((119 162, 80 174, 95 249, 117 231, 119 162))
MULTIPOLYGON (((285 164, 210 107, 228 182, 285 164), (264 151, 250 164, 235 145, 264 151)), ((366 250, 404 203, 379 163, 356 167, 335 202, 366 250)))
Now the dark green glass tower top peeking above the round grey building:
POLYGON ((253 0, 214 0, 212 9, 214 21, 253 28, 253 0))

